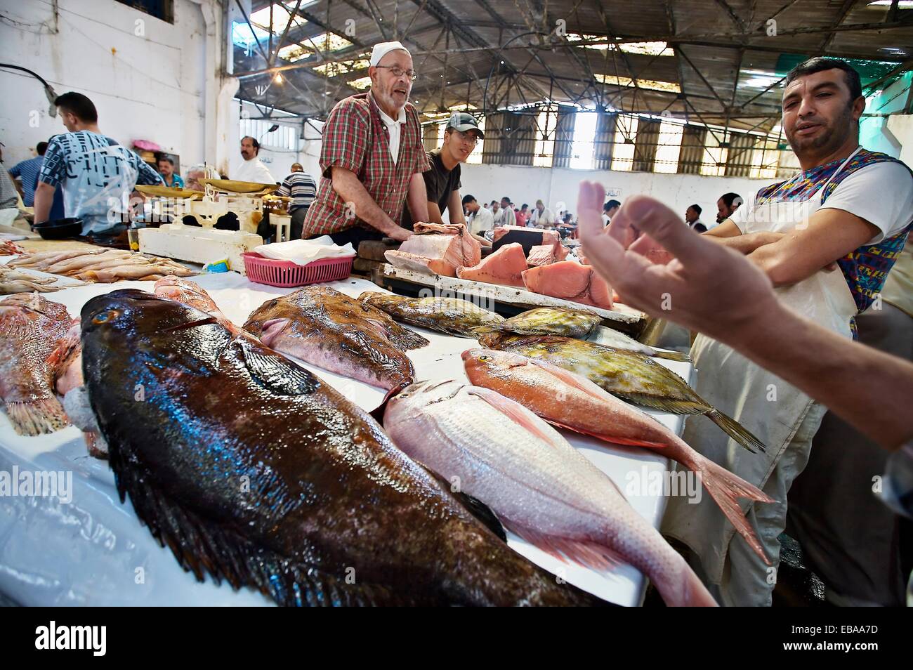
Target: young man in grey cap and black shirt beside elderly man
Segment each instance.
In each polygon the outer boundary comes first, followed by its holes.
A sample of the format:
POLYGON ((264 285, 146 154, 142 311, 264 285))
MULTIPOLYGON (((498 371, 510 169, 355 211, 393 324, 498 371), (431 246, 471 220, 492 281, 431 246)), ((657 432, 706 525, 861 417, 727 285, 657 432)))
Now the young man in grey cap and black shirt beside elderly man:
MULTIPOLYGON (((450 116, 444 131, 444 144, 440 149, 427 152, 431 170, 422 175, 425 177, 429 223, 443 224, 445 209, 451 224, 466 223, 459 196, 460 163, 466 162, 477 142, 484 137, 471 114, 454 112, 450 116)), ((403 208, 401 224, 412 230, 413 219, 408 205, 403 208)))

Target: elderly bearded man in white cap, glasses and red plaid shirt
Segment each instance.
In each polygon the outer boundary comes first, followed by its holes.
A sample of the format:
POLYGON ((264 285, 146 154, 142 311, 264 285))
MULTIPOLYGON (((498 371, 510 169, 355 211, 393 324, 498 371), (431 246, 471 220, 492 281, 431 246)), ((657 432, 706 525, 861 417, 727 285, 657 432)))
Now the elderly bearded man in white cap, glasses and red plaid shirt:
POLYGON ((409 104, 412 56, 399 42, 371 55, 371 90, 341 100, 323 126, 320 188, 302 236, 329 235, 356 248, 366 239, 412 235, 397 222, 408 197, 415 221, 428 220, 422 173, 431 169, 418 111, 409 104))

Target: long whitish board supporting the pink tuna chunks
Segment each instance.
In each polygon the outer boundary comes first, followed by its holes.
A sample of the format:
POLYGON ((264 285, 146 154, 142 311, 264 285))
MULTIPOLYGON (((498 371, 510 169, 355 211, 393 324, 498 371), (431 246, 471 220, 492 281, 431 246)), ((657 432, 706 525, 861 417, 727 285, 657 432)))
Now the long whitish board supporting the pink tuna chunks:
MULTIPOLYGON (((419 287, 453 291, 454 293, 462 294, 467 298, 493 300, 495 303, 502 303, 515 307, 519 311, 537 307, 588 309, 603 318, 603 325, 614 328, 615 330, 621 330, 634 338, 639 337, 653 320, 647 317, 644 312, 629 308, 620 303, 615 305, 615 309, 602 309, 593 307, 592 305, 583 305, 582 303, 573 302, 572 300, 543 296, 540 293, 532 293, 525 288, 487 284, 481 281, 471 281, 456 277, 425 275, 419 272, 393 267, 389 263, 385 263, 381 266, 379 278, 381 280, 381 286, 384 286, 384 280, 395 280, 418 285, 419 287)), ((384 288, 388 287, 384 286, 384 288)))

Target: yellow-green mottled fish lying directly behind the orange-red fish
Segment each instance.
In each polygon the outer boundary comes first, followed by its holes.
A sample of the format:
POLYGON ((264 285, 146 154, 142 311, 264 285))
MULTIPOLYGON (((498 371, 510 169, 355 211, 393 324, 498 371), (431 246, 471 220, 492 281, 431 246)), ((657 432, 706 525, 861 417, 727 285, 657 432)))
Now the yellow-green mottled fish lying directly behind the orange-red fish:
POLYGON ((673 414, 704 414, 740 445, 753 452, 766 446, 735 419, 720 412, 664 365, 635 351, 554 335, 489 333, 479 338, 488 349, 519 353, 576 372, 631 403, 673 414))

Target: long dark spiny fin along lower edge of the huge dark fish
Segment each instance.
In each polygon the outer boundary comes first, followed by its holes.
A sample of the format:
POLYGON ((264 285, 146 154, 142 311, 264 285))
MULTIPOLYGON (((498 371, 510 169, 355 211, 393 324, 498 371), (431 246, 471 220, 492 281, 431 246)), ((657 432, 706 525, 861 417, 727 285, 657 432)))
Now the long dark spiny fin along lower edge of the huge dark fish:
MULTIPOLYGON (((211 521, 167 496, 135 464, 110 451, 110 466, 121 495, 127 495, 152 537, 168 547, 197 581, 209 574, 235 590, 251 587, 285 606, 401 604, 402 596, 382 586, 349 584, 333 575, 254 543, 228 524, 211 521)), ((301 548, 302 553, 306 548, 301 548)))

